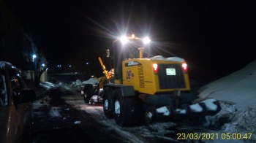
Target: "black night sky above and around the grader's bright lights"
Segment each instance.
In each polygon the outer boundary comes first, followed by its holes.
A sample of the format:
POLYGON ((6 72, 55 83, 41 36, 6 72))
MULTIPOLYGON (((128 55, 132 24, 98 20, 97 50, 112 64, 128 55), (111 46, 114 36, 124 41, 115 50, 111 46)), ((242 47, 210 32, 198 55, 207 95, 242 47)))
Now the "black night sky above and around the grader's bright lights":
POLYGON ((155 55, 184 58, 192 76, 209 80, 241 69, 256 57, 255 2, 9 0, 8 4, 15 7, 51 64, 99 65, 97 57, 105 60, 105 49, 125 33, 148 35, 155 55))

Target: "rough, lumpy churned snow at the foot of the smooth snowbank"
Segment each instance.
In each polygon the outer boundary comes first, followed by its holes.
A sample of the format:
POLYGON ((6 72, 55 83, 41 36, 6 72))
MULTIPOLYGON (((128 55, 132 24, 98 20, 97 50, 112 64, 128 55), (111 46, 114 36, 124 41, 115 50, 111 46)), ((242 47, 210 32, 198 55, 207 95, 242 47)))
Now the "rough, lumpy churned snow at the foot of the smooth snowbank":
POLYGON ((220 105, 222 110, 217 115, 207 116, 205 126, 219 128, 225 133, 256 134, 256 109, 222 102, 220 105))

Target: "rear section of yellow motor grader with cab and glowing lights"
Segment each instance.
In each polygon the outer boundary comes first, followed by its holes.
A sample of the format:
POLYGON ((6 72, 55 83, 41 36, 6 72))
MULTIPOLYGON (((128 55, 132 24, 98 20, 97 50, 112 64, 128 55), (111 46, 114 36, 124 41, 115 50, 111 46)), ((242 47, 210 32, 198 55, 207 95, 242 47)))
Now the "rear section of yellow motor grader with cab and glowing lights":
MULTIPOLYGON (((134 34, 113 42, 107 57, 114 67, 113 82, 103 85, 102 102, 106 117, 121 126, 136 125, 141 118, 150 123, 154 117, 184 120, 219 112, 218 101, 193 103, 187 63, 183 58, 151 55, 150 39, 134 34), (112 52, 112 53, 111 53, 112 52)), ((104 66, 102 66, 105 71, 104 66)), ((106 73, 106 72, 105 72, 106 73)))

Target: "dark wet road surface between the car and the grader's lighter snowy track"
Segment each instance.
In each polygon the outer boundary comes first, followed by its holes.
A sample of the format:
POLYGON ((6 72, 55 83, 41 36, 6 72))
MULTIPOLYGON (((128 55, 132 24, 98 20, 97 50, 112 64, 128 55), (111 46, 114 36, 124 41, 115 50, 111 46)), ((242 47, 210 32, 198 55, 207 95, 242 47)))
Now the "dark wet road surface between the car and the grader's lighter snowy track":
POLYGON ((34 101, 32 142, 124 142, 115 131, 105 131, 103 128, 108 127, 76 109, 77 104, 85 104, 83 97, 65 88, 61 88, 59 98, 44 96, 34 101))

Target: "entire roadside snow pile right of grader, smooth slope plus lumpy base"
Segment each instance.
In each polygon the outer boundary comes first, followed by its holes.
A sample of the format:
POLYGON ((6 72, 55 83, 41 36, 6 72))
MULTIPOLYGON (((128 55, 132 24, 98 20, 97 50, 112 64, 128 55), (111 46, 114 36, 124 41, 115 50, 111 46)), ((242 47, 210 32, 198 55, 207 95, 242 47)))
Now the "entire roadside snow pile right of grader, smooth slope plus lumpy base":
POLYGON ((222 110, 206 117, 207 126, 229 133, 256 134, 256 61, 222 79, 204 85, 199 97, 215 98, 222 110))

